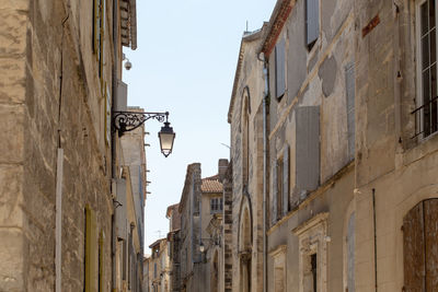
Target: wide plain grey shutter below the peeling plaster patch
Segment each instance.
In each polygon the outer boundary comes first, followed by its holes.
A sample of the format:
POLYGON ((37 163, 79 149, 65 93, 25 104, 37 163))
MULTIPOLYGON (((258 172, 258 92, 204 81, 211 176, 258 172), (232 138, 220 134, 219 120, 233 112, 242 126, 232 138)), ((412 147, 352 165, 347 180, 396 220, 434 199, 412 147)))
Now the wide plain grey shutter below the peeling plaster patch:
POLYGON ((300 192, 316 189, 320 182, 320 107, 296 109, 296 186, 300 192))

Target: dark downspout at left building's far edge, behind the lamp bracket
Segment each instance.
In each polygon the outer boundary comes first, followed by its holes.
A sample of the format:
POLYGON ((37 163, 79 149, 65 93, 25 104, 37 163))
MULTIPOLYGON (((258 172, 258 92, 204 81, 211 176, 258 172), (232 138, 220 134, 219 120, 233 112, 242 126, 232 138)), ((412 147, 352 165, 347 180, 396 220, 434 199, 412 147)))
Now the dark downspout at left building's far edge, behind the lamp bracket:
MULTIPOLYGON (((114 104, 117 98, 117 71, 118 71, 118 1, 113 1, 113 50, 114 50, 114 59, 113 59, 113 68, 112 68, 112 91, 113 94, 111 101, 112 114, 114 113, 114 104)), ((113 115, 111 115, 113 117, 113 115)), ((116 133, 113 131, 113 120, 111 122, 111 177, 112 179, 116 177, 116 133)), ((111 184, 113 187, 113 184, 111 184)), ((115 189, 111 190, 112 194, 116 192, 115 189)), ((116 246, 117 246, 117 238, 116 238, 116 208, 113 209, 113 215, 111 217, 111 259, 112 259, 112 290, 116 291, 117 283, 116 283, 116 246)))

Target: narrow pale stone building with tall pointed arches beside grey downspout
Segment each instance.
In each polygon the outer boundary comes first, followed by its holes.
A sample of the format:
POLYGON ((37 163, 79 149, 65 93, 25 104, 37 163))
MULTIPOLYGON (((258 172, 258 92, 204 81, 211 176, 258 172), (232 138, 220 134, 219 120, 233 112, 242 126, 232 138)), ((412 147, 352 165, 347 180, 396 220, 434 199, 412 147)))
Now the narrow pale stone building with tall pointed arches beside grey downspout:
POLYGON ((224 291, 263 290, 263 62, 266 25, 245 32, 228 112, 231 163, 224 192, 224 291), (228 249, 230 247, 231 249, 228 249))

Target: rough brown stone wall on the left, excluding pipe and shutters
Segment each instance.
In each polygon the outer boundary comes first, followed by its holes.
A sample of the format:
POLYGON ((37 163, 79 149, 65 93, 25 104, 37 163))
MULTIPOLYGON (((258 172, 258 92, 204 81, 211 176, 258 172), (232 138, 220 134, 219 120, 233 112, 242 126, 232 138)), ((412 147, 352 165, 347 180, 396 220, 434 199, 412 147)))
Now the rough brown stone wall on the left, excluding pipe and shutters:
MULTIPOLYGON (((0 108, 7 126, 0 143, 0 246, 7 259, 0 264, 2 291, 55 289, 58 147, 64 149, 62 291, 83 290, 85 205, 95 211, 97 230, 105 236, 102 272, 105 290, 111 289, 111 157, 96 62, 84 62, 94 58, 91 5, 0 2, 0 108)), ((105 31, 108 36, 108 26, 105 31)), ((106 46, 112 46, 110 38, 106 46)), ((111 84, 112 58, 105 56, 105 81, 111 84)))

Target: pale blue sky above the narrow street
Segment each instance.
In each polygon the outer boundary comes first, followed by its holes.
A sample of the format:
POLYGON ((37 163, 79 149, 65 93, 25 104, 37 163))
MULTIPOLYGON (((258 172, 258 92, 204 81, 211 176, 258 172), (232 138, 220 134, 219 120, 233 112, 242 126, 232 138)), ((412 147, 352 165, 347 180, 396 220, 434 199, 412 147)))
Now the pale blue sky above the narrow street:
POLYGON ((201 177, 217 174, 218 160, 230 156, 228 107, 243 32, 268 21, 275 0, 137 1, 136 50, 124 49, 132 63, 124 70, 128 105, 169 112, 176 132, 173 152, 160 152, 162 126, 145 130, 148 198, 145 254, 169 232, 166 208, 180 202, 187 165, 201 164, 201 177))

